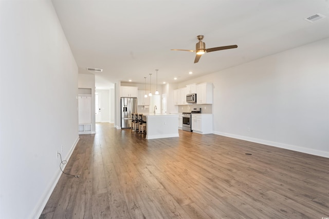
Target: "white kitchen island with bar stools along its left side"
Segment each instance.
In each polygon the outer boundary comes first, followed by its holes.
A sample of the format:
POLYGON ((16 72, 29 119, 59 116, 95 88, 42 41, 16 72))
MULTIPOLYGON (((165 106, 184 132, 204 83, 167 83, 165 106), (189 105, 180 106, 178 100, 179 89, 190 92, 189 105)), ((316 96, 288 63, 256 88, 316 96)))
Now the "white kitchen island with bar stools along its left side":
POLYGON ((179 137, 177 114, 143 113, 146 117, 146 138, 179 137))

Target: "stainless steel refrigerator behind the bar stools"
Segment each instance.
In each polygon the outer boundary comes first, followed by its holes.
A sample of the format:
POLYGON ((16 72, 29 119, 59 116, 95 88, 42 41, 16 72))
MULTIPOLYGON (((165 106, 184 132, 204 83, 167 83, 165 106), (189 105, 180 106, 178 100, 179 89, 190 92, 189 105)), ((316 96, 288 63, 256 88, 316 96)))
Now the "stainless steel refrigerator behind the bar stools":
POLYGON ((121 97, 121 129, 131 128, 132 113, 137 113, 137 98, 121 97))

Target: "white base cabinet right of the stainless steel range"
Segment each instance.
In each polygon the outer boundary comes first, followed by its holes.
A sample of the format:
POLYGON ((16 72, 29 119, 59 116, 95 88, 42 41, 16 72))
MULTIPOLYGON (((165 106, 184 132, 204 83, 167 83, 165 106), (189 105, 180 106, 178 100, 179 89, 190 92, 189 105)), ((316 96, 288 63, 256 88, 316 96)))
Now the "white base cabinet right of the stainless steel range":
POLYGON ((212 133, 212 114, 192 114, 191 129, 200 134, 212 133))

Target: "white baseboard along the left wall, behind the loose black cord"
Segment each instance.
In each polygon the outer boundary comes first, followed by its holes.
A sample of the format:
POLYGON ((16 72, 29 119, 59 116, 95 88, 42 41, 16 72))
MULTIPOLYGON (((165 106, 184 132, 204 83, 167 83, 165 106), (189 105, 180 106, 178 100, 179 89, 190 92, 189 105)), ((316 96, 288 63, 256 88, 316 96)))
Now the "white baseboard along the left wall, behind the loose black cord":
MULTIPOLYGON (((68 152, 67 156, 65 157, 65 159, 64 159, 65 161, 69 161, 69 158, 71 157, 74 149, 76 148, 76 146, 79 142, 79 139, 80 138, 78 135, 76 138, 76 141, 71 146, 70 151, 68 152)), ((64 169, 64 168, 65 168, 65 165, 64 165, 64 167, 62 167, 62 169, 64 169)), ((40 217, 40 215, 42 214, 42 211, 45 208, 45 206, 49 200, 49 197, 50 197, 51 193, 53 192, 54 188, 56 187, 61 175, 62 175, 62 171, 60 169, 58 169, 58 171, 56 172, 56 174, 53 177, 53 180, 51 181, 52 182, 51 185, 48 187, 45 194, 40 199, 39 204, 36 205, 35 210, 32 212, 32 215, 28 218, 39 218, 40 217)))

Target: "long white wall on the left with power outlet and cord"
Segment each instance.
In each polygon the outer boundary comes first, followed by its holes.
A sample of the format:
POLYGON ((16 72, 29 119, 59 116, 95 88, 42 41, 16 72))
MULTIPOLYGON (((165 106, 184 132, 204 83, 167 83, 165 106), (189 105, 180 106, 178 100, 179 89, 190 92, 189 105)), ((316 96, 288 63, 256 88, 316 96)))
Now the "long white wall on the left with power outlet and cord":
POLYGON ((1 1, 0 218, 38 218, 78 139, 78 67, 50 1, 1 1))

